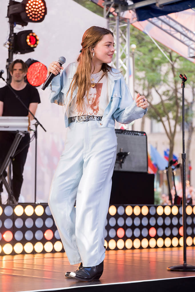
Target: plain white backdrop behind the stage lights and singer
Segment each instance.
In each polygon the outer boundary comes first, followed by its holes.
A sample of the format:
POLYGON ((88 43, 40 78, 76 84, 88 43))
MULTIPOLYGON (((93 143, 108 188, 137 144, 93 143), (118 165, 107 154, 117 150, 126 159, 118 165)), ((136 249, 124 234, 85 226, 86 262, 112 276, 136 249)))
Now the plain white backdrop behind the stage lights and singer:
MULTIPOLYGON (((81 39, 84 31, 92 26, 98 25, 107 27, 104 18, 90 12, 86 8, 72 0, 45 0, 47 15, 41 23, 28 23, 24 28, 17 25, 14 32, 21 29, 32 29, 39 38, 40 43, 34 52, 14 55, 15 59, 26 61, 33 58, 49 65, 50 62, 57 60, 59 56, 66 58, 66 65, 75 61, 81 49, 81 39)), ((8 58, 8 48, 4 46, 9 35, 9 24, 7 6, 9 1, 1 1, 0 16, 0 69, 3 69, 4 79, 6 79, 6 59, 8 58)), ((0 79, 0 87, 4 86, 4 81, 0 79)), ((41 90, 37 88, 41 98, 38 105, 36 117, 44 126, 47 132, 38 126, 37 133, 37 202, 47 202, 51 180, 59 161, 59 156, 64 148, 65 126, 62 107, 51 104, 48 100, 49 89, 41 90)), ((35 126, 31 126, 35 129, 35 126)), ((31 133, 32 135, 32 133, 31 133)), ((1 145, 0 145, 1 147, 1 145)), ((23 173, 24 182, 19 198, 19 202, 34 202, 35 200, 35 140, 30 144, 25 170, 23 173)), ((2 193, 2 201, 7 199, 7 193, 2 193)))

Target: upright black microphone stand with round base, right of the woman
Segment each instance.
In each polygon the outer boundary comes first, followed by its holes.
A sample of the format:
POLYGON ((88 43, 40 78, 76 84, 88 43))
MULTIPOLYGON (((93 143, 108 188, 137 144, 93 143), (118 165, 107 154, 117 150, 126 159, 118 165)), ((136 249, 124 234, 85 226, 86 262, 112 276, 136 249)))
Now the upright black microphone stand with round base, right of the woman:
POLYGON ((184 112, 184 88, 185 88, 185 81, 187 81, 187 77, 184 74, 179 75, 182 79, 182 138, 183 138, 183 152, 182 152, 182 182, 183 182, 183 265, 177 265, 172 267, 167 267, 169 271, 182 271, 182 272, 192 272, 195 271, 195 266, 187 265, 186 262, 186 153, 185 153, 185 112, 184 112))

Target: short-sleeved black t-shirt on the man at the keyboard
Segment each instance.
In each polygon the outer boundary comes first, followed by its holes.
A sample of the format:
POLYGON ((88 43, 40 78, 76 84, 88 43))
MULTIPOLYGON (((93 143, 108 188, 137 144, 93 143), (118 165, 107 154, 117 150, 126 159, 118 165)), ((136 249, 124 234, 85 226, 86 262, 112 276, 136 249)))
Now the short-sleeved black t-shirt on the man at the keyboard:
MULTIPOLYGON (((12 88, 13 89, 13 88, 12 88)), ((23 101, 23 103, 29 108, 31 102, 40 103, 40 96, 37 88, 26 84, 22 90, 15 90, 16 94, 23 101)), ((0 88, 0 101, 4 103, 2 116, 6 117, 26 117, 28 116, 28 110, 22 105, 20 100, 16 98, 11 89, 6 85, 0 88)))

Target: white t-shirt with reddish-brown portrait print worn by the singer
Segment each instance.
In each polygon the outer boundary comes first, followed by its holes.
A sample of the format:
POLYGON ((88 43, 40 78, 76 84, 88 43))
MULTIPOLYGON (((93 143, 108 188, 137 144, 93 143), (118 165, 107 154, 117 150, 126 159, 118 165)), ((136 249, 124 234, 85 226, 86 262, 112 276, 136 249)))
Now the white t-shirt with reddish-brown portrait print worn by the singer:
POLYGON ((92 86, 89 95, 84 96, 85 109, 81 112, 76 109, 76 98, 73 99, 69 117, 75 116, 103 116, 105 108, 108 105, 108 91, 107 91, 107 76, 104 76, 100 81, 103 71, 97 74, 91 74, 92 86), (99 81, 99 83, 98 83, 99 81))

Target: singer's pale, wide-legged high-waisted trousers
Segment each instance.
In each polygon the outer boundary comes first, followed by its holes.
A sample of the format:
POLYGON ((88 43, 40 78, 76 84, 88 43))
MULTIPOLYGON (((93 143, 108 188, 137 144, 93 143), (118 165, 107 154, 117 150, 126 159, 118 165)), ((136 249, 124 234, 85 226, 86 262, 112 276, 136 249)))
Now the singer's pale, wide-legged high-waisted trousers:
POLYGON ((73 122, 52 180, 49 208, 71 265, 99 265, 116 160, 114 128, 73 122), (76 208, 74 207, 76 201, 76 208))

